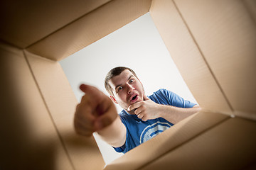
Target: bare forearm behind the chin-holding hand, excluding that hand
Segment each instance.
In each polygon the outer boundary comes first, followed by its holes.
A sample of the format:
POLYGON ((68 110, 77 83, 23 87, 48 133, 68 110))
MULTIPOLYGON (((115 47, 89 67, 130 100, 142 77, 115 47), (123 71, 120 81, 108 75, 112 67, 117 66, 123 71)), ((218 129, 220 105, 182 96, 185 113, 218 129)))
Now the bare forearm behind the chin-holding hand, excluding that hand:
POLYGON ((161 112, 159 113, 159 117, 165 118, 171 123, 178 123, 179 121, 187 118, 194 113, 200 111, 201 108, 199 106, 194 106, 193 108, 177 108, 174 106, 162 106, 161 112))

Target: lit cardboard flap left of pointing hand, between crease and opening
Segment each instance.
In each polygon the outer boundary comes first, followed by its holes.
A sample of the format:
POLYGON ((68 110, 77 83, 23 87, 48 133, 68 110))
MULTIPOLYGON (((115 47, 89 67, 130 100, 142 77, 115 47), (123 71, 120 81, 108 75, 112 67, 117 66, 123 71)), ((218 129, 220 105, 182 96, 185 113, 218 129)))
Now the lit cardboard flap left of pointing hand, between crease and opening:
POLYGON ((94 138, 75 134, 73 117, 78 102, 60 64, 30 52, 25 55, 74 168, 83 169, 86 162, 87 169, 102 169, 104 161, 94 138))

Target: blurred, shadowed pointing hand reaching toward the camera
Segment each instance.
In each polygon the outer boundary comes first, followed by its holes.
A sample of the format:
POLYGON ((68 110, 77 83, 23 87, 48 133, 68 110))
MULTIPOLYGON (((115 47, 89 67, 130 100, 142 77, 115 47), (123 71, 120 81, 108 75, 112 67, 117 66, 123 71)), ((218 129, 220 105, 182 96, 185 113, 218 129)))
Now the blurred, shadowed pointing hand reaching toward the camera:
POLYGON ((113 123, 117 110, 111 99, 94 86, 82 84, 80 89, 85 95, 75 111, 75 131, 89 137, 113 123))

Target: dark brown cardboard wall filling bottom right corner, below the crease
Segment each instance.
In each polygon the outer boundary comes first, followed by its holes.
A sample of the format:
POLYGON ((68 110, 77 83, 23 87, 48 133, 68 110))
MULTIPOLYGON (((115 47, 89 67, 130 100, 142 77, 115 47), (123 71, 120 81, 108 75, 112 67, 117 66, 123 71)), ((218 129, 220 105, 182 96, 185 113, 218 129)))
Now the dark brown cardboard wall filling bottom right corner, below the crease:
POLYGON ((142 169, 250 169, 255 132, 255 122, 231 118, 142 169))

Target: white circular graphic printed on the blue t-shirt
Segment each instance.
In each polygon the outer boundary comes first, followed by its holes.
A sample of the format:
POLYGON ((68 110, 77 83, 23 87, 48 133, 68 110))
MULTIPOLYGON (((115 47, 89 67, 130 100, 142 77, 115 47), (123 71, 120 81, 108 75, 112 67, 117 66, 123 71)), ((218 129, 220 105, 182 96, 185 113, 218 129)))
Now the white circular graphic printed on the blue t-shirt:
POLYGON ((139 142, 142 144, 170 127, 171 125, 169 123, 159 121, 152 125, 148 125, 142 131, 139 142))

